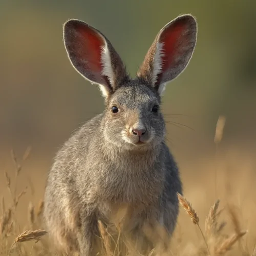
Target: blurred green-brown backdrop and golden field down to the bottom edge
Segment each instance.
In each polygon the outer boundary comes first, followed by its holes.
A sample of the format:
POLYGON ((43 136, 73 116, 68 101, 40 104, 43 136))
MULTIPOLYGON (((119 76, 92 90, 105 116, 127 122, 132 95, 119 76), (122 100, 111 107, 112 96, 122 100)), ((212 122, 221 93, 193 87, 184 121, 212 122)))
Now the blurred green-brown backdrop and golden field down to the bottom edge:
MULTIPOLYGON (((36 216, 56 151, 81 123, 103 110, 98 89, 68 61, 62 24, 77 18, 101 30, 135 74, 158 30, 181 13, 197 17, 198 43, 185 72, 167 85, 167 142, 204 238, 205 218, 220 199, 224 210, 218 221, 227 222, 223 241, 238 227, 247 231, 223 254, 256 255, 256 2, 249 0, 0 2, 0 255, 8 255, 24 230, 43 228, 36 217, 31 223, 29 212, 34 208, 36 216), (220 115, 226 124, 216 146, 220 115), (21 163, 27 146, 31 152, 15 181, 10 152, 21 163), (8 219, 15 188, 20 198, 8 219)), ((10 255, 51 255, 46 239, 47 234, 36 244, 16 243, 10 255)), ((198 226, 182 208, 170 244, 169 255, 208 253, 198 226)))

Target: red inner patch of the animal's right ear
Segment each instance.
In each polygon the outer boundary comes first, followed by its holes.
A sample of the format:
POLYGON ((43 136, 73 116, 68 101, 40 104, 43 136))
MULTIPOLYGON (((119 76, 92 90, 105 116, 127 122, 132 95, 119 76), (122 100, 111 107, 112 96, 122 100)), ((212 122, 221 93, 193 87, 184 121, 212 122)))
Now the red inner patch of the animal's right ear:
POLYGON ((170 25, 162 32, 159 42, 163 43, 162 51, 162 72, 158 75, 158 81, 165 71, 174 67, 177 63, 177 55, 182 54, 182 48, 187 44, 186 33, 187 23, 180 20, 173 25, 170 25))

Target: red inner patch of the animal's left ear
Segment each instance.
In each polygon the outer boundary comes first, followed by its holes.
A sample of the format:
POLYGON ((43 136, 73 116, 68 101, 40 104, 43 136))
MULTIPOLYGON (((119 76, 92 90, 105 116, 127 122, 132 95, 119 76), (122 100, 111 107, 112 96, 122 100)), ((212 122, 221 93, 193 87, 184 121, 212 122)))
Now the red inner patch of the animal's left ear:
POLYGON ((82 45, 79 51, 80 59, 87 62, 87 68, 93 73, 101 74, 101 51, 104 41, 95 31, 84 25, 79 26, 76 31, 82 45))

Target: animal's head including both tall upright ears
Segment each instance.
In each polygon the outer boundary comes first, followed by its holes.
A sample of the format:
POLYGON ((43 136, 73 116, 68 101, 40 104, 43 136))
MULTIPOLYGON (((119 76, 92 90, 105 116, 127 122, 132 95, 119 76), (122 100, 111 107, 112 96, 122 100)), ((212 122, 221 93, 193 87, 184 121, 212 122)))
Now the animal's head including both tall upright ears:
POLYGON ((197 39, 195 18, 179 16, 160 30, 136 79, 127 74, 110 41, 92 26, 68 20, 63 36, 74 68, 97 83, 105 98, 105 139, 134 150, 161 143, 165 135, 161 96, 165 84, 186 68, 193 54, 197 39))

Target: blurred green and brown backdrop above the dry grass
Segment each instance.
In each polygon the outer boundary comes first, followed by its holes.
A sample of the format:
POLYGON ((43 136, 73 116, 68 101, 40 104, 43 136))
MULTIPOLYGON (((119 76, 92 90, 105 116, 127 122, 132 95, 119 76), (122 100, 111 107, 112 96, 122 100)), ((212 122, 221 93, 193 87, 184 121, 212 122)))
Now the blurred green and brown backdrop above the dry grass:
MULTIPOLYGON (((37 197, 42 197, 58 148, 78 126, 103 111, 98 88, 74 70, 66 55, 62 24, 67 19, 84 20, 105 34, 135 76, 158 31, 184 13, 197 18, 198 43, 187 69, 167 84, 163 111, 166 121, 174 122, 167 124, 167 139, 185 191, 201 189, 202 197, 207 194, 208 183, 198 177, 208 177, 215 169, 219 115, 226 117, 220 158, 229 159, 231 172, 239 166, 242 177, 246 168, 253 173, 255 1, 2 0, 0 195, 6 193, 1 186, 4 171, 13 175, 11 148, 22 156, 26 147, 32 146, 21 179, 30 177, 39 191, 37 197)), ((18 185, 24 186, 22 181, 18 185)))

